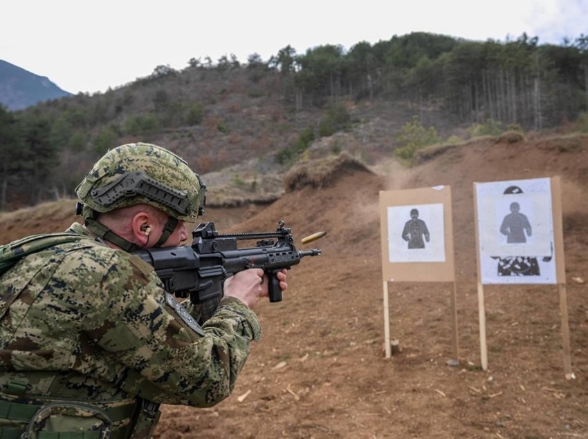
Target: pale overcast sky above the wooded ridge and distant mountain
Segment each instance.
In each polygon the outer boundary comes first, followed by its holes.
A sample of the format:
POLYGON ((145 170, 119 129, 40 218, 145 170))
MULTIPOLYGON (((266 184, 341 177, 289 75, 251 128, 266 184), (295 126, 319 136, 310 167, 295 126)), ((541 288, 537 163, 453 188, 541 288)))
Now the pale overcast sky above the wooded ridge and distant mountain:
POLYGON ((475 41, 561 44, 588 35, 588 0, 18 0, 0 16, 0 59, 68 92, 104 92, 159 65, 258 53, 288 44, 345 49, 433 32, 475 41))

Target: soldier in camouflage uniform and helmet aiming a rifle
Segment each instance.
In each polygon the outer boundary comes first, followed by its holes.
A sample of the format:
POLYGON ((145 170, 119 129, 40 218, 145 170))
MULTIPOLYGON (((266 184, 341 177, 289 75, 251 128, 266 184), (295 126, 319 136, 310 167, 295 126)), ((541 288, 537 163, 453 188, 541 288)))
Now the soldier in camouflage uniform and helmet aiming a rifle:
MULTIPOLYGON (((261 269, 230 277, 200 325, 198 309, 178 306, 130 253, 187 239, 205 186, 183 159, 122 145, 76 193, 84 225, 68 233, 80 239, 22 257, 0 278, 0 438, 149 438, 160 403, 229 396, 261 335, 261 269)), ((285 271, 277 277, 286 290, 285 271)))

